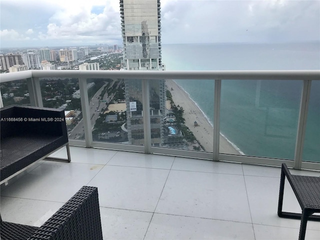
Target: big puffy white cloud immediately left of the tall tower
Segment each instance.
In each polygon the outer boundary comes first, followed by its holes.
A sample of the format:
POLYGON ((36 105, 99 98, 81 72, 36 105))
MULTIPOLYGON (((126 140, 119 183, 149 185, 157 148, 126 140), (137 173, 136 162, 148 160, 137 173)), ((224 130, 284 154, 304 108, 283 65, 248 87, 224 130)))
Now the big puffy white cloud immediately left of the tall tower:
POLYGON ((46 32, 39 33, 39 38, 72 41, 96 39, 98 42, 107 37, 119 39, 121 32, 118 11, 115 11, 112 5, 105 5, 103 12, 92 13, 91 7, 95 3, 101 4, 102 1, 96 0, 90 4, 87 1, 79 1, 73 7, 64 5, 63 9, 59 9, 49 18, 46 32))

